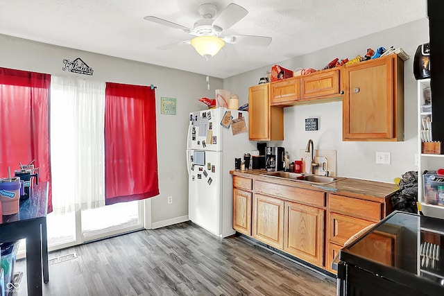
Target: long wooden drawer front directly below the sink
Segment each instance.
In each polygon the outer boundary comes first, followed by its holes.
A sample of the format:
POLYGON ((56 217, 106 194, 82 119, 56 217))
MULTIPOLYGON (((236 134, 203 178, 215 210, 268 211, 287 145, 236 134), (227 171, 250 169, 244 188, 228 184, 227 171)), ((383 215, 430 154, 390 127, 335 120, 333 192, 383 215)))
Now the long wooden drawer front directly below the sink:
POLYGON ((317 207, 325 207, 325 193, 321 191, 279 185, 259 180, 255 181, 255 190, 258 193, 274 195, 284 200, 312 204, 317 207))

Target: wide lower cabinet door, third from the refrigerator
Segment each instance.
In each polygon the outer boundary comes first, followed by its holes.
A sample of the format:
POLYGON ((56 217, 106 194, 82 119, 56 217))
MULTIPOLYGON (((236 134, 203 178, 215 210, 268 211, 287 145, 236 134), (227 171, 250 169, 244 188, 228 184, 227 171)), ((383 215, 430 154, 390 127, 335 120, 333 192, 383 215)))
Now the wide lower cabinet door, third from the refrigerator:
POLYGON ((324 216, 323 209, 285 202, 284 251, 323 266, 324 216))

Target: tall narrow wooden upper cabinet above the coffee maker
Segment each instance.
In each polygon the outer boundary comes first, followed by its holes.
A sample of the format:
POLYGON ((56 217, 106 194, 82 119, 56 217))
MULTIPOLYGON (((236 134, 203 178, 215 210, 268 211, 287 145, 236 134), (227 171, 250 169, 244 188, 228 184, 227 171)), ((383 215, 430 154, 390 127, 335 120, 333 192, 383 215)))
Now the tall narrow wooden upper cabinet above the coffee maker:
POLYGON ((270 83, 248 89, 250 141, 284 140, 284 110, 270 105, 270 83))

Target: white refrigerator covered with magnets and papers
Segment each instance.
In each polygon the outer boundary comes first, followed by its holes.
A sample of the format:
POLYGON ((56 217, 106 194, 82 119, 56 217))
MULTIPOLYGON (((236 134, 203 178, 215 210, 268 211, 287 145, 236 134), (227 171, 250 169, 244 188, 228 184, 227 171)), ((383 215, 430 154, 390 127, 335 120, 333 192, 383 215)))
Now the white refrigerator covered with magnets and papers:
POLYGON ((255 145, 248 139, 248 112, 216 108, 189 114, 189 220, 217 236, 234 234, 230 170, 234 170, 234 158, 244 159, 244 153, 252 150, 255 145), (224 126, 222 120, 228 112, 233 121, 223 121, 224 126))

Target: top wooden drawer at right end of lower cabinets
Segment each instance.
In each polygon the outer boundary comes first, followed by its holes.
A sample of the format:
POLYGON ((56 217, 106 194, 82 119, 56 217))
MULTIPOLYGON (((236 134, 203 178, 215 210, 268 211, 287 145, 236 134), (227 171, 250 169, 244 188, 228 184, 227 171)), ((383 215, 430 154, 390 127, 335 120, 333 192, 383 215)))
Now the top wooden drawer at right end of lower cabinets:
POLYGON ((379 202, 347 198, 336 194, 330 194, 330 211, 375 222, 379 222, 382 218, 382 204, 379 202))

